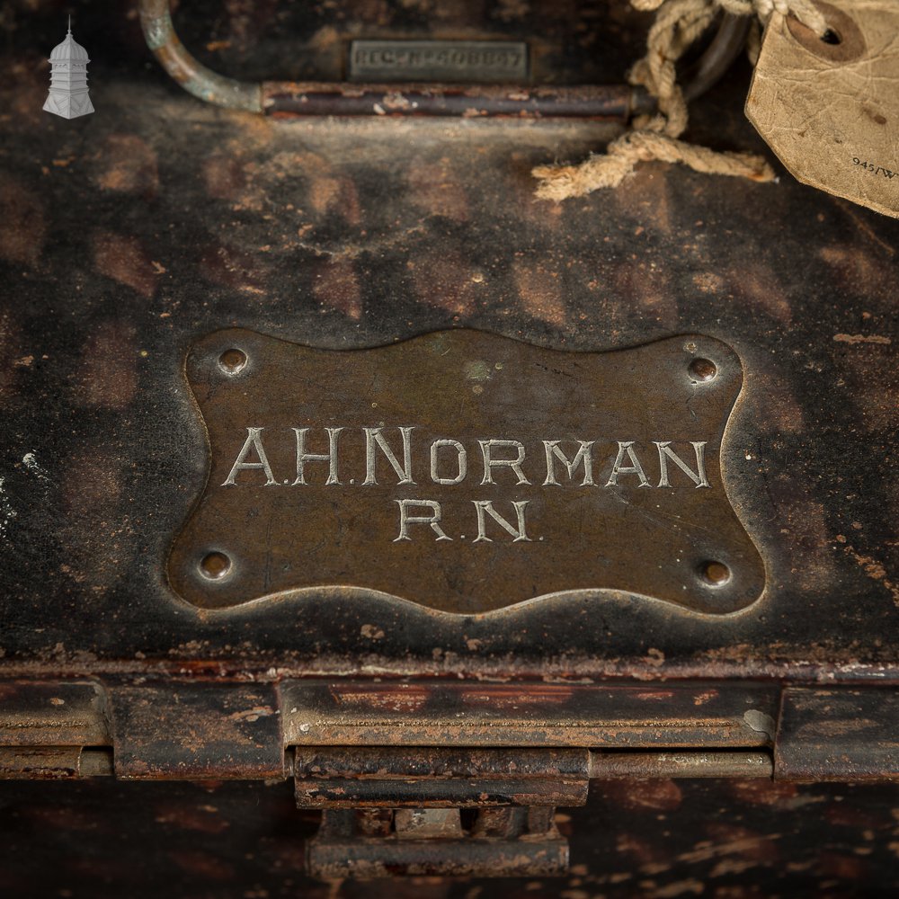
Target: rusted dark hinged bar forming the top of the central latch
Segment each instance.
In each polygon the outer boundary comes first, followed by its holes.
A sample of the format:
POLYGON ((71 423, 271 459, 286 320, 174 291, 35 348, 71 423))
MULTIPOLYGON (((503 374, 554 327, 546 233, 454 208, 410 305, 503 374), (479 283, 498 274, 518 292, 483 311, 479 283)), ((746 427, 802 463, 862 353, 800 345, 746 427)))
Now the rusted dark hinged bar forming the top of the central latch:
POLYGON ((301 808, 583 806, 586 750, 298 748, 301 808))

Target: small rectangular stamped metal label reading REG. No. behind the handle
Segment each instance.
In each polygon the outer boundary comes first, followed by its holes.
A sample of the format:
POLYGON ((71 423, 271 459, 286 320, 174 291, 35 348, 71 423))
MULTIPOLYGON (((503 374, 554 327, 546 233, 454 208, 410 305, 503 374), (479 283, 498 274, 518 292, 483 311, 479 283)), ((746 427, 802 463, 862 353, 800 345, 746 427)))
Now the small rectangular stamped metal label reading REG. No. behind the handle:
POLYGON ((528 45, 507 40, 353 40, 351 81, 521 82, 528 45))

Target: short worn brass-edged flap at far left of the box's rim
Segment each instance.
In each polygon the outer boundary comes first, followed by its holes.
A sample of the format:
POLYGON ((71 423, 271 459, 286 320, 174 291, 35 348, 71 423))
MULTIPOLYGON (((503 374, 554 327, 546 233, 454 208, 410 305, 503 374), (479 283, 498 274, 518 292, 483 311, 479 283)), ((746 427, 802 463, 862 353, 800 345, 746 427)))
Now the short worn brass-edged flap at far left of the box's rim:
POLYGON ((0 681, 0 746, 110 744, 99 683, 0 681))

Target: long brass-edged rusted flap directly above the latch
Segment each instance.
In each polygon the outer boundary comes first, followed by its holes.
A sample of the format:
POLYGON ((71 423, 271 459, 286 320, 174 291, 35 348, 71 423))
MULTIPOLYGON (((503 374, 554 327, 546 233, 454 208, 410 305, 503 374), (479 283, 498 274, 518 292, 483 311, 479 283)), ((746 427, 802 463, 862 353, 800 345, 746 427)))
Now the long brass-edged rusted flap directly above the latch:
POLYGON ((378 683, 281 686, 296 746, 766 746, 779 690, 757 684, 378 683))

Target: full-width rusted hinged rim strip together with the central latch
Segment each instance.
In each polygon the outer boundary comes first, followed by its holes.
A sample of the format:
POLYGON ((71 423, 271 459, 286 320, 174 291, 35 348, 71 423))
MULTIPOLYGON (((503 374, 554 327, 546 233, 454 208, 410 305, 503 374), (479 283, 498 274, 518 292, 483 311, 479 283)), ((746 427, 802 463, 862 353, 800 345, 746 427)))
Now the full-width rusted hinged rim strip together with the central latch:
POLYGON ((321 876, 547 876, 591 780, 895 779, 897 720, 891 683, 8 681, 0 778, 293 778, 321 876))

